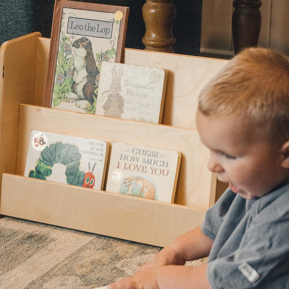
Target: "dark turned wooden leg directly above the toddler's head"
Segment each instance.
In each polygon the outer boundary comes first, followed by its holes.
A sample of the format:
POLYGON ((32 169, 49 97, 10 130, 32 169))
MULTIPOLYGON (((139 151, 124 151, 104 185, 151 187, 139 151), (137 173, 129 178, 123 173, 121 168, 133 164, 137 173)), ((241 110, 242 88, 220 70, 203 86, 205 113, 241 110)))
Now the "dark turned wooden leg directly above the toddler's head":
POLYGON ((236 0, 232 17, 232 33, 235 54, 245 47, 257 46, 260 28, 261 13, 259 0, 236 0))

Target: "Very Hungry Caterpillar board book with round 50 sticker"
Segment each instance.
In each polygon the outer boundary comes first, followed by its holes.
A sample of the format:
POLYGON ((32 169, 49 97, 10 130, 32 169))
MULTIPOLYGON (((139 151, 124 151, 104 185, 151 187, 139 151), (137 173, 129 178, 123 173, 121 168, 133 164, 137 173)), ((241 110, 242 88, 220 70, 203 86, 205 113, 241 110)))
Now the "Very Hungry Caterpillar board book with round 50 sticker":
POLYGON ((109 143, 31 131, 25 177, 103 189, 109 143))

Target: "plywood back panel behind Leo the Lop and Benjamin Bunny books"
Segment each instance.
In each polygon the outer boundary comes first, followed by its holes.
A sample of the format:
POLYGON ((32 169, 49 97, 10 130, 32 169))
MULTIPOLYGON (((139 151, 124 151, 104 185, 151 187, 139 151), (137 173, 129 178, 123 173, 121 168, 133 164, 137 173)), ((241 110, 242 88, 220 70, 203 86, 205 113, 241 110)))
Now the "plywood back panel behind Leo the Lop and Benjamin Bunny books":
MULTIPOLYGON (((49 56, 49 38, 38 38, 34 104, 42 105, 49 56)), ((168 72, 162 124, 196 130, 199 92, 228 60, 125 48, 124 63, 168 72)), ((49 73, 52 71, 48 70, 49 73)))

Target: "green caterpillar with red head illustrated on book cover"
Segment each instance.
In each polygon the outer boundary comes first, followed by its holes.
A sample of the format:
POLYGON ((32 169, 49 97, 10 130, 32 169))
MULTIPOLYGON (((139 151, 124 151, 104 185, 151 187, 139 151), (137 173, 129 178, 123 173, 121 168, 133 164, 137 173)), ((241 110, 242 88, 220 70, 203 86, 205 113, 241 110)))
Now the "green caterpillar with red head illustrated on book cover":
MULTIPOLYGON (((93 165, 91 173, 79 171, 81 154, 78 148, 73 144, 63 144, 56 142, 49 147, 45 147, 40 153, 40 158, 35 167, 35 171, 29 172, 29 177, 46 180, 52 174, 52 167, 56 163, 66 166, 66 182, 70 185, 93 188, 95 185, 95 176, 92 174, 96 163, 93 165)), ((90 162, 88 162, 90 171, 90 162)))

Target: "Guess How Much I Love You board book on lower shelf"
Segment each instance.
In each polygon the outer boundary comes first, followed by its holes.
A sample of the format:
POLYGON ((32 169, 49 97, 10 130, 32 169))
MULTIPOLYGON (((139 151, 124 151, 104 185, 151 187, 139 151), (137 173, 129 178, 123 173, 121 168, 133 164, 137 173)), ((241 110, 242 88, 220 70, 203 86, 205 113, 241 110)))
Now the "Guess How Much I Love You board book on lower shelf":
POLYGON ((113 142, 105 190, 171 203, 180 162, 176 151, 113 142))

